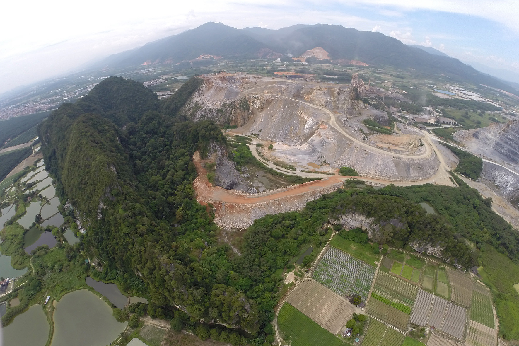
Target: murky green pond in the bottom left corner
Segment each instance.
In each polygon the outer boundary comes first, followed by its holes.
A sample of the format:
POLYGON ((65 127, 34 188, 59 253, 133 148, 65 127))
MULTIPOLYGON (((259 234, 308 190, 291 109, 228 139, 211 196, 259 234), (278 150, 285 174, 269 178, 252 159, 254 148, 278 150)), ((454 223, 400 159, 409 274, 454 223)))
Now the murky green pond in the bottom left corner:
POLYGON ((33 305, 4 328, 4 345, 44 346, 49 338, 49 329, 42 305, 33 305))

